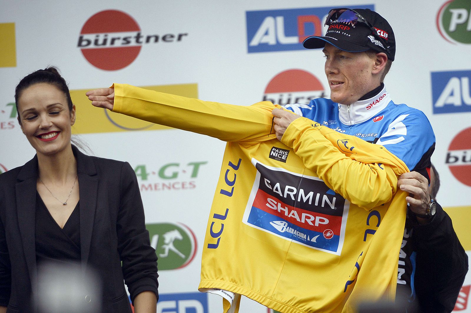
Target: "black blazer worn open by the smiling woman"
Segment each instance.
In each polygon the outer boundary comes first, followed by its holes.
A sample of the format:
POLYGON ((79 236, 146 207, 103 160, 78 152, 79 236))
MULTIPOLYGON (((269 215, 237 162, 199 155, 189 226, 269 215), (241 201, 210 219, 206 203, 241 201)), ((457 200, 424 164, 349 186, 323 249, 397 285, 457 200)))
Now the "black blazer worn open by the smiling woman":
MULTIPOLYGON (((90 157, 72 146, 80 187, 81 267, 102 282, 102 313, 130 313, 142 291, 158 297, 157 256, 150 246, 136 174, 127 162, 90 157), (121 263, 122 262, 122 263, 121 263)), ((35 211, 38 158, 0 175, 0 305, 32 313, 37 290, 35 211)), ((88 297, 85 297, 88 296, 88 297)))

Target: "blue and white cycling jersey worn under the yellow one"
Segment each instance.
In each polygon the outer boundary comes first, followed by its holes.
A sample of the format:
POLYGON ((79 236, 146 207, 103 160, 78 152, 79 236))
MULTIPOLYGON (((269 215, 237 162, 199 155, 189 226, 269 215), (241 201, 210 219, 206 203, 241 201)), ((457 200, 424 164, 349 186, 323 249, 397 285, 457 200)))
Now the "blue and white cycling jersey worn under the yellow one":
POLYGON ((435 135, 422 111, 406 104, 395 104, 385 88, 374 97, 344 105, 318 98, 309 104, 284 106, 340 133, 383 145, 406 163, 410 171, 430 167, 435 135))

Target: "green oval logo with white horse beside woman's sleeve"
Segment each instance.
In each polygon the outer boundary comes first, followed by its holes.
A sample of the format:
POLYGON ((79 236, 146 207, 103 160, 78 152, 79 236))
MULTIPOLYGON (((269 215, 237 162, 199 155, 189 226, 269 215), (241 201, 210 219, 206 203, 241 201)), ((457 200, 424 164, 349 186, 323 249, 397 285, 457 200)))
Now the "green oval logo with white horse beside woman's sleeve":
POLYGON ((196 254, 196 236, 182 223, 146 224, 150 244, 159 258, 159 271, 187 266, 196 254))

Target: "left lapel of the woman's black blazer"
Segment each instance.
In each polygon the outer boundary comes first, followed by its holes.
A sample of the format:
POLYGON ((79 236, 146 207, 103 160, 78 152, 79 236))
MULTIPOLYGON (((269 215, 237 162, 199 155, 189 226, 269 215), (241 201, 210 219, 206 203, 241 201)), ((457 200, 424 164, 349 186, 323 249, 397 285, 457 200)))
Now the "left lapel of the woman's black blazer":
POLYGON ((38 176, 38 159, 35 156, 31 161, 23 165, 18 173, 16 183, 16 210, 18 215, 18 227, 23 242, 24 258, 28 266, 28 272, 32 284, 32 290, 36 290, 36 181, 38 176))

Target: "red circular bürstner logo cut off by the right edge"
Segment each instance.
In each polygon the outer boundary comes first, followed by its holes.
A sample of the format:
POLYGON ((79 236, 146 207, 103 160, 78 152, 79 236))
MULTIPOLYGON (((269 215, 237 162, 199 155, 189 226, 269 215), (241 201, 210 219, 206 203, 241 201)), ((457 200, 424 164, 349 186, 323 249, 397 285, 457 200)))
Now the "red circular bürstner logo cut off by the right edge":
POLYGON ((451 141, 445 163, 457 180, 471 187, 471 127, 451 141))

